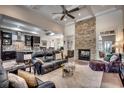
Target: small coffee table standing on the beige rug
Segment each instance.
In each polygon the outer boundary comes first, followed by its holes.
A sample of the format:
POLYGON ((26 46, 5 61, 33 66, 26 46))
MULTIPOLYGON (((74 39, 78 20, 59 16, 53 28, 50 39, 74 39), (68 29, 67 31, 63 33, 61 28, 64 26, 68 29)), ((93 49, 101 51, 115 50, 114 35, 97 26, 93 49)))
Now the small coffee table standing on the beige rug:
POLYGON ((74 63, 65 63, 62 68, 62 76, 73 76, 75 71, 75 64, 74 63))

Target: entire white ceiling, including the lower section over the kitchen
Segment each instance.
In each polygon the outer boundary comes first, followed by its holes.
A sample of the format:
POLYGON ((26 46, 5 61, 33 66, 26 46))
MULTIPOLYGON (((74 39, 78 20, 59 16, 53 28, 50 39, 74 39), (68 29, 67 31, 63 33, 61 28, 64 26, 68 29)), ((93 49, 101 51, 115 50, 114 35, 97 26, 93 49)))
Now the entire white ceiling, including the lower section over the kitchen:
POLYGON ((59 5, 23 5, 21 7, 17 5, 0 7, 2 7, 0 8, 1 11, 3 9, 3 12, 1 14, 9 15, 12 17, 10 18, 9 16, 7 17, 4 15, 4 17, 2 15, 0 16, 0 26, 2 28, 16 28, 15 30, 33 32, 33 34, 39 32, 43 32, 42 34, 44 34, 44 32, 48 31, 62 33, 64 30, 64 25, 70 24, 72 22, 77 22, 88 17, 100 16, 105 13, 123 8, 123 6, 114 5, 66 5, 65 7, 67 10, 71 10, 76 7, 79 7, 80 10, 71 13, 71 15, 75 17, 75 19, 71 19, 70 17, 65 16, 66 21, 60 21, 62 14, 52 14, 62 12, 62 8, 59 5))

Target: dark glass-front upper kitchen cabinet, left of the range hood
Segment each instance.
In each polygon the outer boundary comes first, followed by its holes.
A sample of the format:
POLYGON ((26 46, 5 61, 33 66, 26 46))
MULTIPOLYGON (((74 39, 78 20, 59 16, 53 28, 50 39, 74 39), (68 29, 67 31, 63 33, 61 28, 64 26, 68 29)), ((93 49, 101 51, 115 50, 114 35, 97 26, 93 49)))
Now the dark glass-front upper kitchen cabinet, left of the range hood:
POLYGON ((2 45, 12 45, 12 33, 2 32, 2 45))

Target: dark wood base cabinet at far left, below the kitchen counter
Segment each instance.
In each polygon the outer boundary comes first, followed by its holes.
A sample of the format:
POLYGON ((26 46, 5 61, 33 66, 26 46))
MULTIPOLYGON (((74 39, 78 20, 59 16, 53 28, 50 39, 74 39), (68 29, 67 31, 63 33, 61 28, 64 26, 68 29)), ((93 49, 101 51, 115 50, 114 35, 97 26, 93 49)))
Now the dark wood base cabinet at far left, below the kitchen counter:
POLYGON ((11 60, 16 58, 16 51, 3 51, 1 59, 3 61, 5 60, 11 60))

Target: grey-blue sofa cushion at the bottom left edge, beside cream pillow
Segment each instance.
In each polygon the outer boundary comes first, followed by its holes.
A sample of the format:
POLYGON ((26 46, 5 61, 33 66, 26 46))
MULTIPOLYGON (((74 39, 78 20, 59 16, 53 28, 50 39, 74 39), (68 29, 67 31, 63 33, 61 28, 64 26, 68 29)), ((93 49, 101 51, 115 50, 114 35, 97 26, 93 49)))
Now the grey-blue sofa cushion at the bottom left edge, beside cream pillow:
POLYGON ((3 66, 0 64, 0 88, 8 88, 9 81, 6 71, 3 66))

